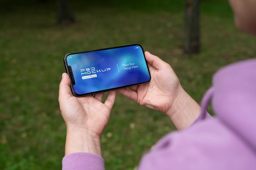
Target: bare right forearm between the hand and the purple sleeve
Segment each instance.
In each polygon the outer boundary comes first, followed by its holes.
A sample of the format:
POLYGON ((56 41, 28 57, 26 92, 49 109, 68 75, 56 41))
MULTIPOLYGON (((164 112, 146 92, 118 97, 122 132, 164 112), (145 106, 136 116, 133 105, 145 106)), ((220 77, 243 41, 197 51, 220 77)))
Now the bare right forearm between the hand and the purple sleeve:
POLYGON ((182 90, 173 102, 173 107, 167 111, 177 130, 189 127, 200 115, 201 107, 186 91, 182 90))

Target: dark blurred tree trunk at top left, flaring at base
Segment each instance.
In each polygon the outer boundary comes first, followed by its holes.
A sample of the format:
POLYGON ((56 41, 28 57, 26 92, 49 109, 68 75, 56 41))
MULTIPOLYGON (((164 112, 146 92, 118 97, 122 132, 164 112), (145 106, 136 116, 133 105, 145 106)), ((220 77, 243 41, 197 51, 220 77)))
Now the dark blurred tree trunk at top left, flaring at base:
POLYGON ((76 22, 74 15, 70 10, 68 0, 57 0, 57 5, 58 5, 58 14, 57 14, 58 24, 69 24, 69 23, 76 22))

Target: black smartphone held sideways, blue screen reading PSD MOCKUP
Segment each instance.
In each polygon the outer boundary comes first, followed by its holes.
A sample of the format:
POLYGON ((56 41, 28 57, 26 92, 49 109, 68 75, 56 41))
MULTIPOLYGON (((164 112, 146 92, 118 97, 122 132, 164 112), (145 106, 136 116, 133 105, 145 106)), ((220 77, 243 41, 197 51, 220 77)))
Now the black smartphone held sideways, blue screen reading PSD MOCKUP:
POLYGON ((150 81, 148 64, 139 44, 68 53, 64 64, 76 97, 150 81))

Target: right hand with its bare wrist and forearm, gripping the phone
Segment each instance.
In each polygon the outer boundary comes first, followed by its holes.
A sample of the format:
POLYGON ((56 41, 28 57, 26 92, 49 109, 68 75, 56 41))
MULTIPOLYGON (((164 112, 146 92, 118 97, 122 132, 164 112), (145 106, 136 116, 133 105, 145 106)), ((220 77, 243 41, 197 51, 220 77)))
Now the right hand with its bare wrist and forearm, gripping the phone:
POLYGON ((145 57, 150 82, 117 91, 138 104, 166 113, 177 129, 186 128, 200 114, 200 106, 184 91, 168 63, 147 51, 145 57))

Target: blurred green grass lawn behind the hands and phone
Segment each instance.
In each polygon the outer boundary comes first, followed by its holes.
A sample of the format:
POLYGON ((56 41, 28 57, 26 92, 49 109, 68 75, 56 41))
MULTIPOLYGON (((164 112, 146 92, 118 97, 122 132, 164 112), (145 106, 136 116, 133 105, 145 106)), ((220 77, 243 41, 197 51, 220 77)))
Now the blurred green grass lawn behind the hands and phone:
MULTIPOLYGON (((256 53, 256 40, 236 29, 223 0, 202 1, 202 48, 191 56, 182 51, 182 1, 104 2, 72 3, 77 23, 61 26, 55 24, 54 2, 0 4, 1 170, 61 169, 65 124, 58 84, 66 53, 141 44, 171 64, 197 102, 211 86, 215 71, 256 53)), ((118 94, 101 139, 106 169, 134 169, 140 157, 172 130, 164 114, 118 94)))

